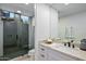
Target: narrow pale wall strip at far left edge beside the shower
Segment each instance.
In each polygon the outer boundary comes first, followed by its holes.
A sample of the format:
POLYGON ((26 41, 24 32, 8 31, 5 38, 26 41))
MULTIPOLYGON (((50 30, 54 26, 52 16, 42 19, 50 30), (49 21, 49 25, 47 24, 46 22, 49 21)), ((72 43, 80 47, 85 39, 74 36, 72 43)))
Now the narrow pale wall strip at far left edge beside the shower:
POLYGON ((0 56, 3 55, 3 23, 0 21, 0 56))

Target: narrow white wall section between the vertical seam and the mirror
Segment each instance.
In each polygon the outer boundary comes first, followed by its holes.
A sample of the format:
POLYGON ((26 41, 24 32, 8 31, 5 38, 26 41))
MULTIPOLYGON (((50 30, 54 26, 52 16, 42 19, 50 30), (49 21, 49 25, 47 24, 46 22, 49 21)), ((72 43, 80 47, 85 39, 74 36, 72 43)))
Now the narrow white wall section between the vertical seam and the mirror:
POLYGON ((50 35, 51 38, 58 37, 58 11, 50 8, 50 35))

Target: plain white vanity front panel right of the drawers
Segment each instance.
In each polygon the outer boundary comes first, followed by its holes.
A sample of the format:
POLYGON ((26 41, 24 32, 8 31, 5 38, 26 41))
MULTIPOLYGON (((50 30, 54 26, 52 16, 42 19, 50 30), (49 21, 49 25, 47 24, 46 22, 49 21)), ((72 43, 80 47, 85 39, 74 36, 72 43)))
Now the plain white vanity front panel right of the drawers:
POLYGON ((79 61, 79 59, 66 55, 59 51, 48 49, 48 60, 49 61, 79 61))

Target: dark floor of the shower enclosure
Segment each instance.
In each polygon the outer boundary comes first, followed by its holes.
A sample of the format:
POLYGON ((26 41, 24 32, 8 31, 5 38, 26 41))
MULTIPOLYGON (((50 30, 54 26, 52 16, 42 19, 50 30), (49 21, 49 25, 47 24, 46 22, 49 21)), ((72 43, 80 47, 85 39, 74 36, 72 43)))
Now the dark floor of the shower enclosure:
POLYGON ((0 61, 8 61, 27 53, 28 53, 28 49, 19 50, 17 48, 10 48, 5 50, 3 56, 0 56, 0 61))

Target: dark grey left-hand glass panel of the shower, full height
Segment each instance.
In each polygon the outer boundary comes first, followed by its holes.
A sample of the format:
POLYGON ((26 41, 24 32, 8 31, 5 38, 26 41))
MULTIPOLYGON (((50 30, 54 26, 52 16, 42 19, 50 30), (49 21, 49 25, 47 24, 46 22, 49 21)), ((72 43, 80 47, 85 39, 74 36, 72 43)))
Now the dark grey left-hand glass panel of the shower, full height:
POLYGON ((3 54, 8 55, 16 50, 17 26, 14 21, 3 22, 3 54))

